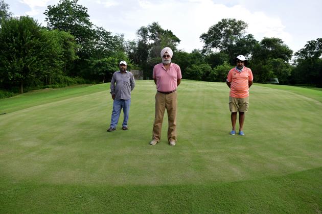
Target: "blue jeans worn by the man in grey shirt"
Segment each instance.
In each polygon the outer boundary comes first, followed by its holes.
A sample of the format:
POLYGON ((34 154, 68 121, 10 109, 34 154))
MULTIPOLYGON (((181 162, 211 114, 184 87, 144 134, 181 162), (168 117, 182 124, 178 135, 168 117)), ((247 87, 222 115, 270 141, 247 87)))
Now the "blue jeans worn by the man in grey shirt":
POLYGON ((129 120, 130 105, 131 105, 131 99, 113 101, 113 111, 111 116, 110 127, 114 129, 117 127, 122 108, 123 108, 123 114, 124 114, 124 120, 123 120, 122 126, 127 127, 127 121, 129 120))

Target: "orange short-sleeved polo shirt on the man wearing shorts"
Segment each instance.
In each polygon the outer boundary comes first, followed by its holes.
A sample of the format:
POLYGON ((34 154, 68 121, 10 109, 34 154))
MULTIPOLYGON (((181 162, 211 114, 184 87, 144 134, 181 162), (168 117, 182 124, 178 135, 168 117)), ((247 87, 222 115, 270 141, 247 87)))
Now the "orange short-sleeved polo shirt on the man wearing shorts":
POLYGON ((233 98, 247 98, 249 96, 248 81, 252 81, 251 69, 243 67, 239 72, 236 67, 229 70, 227 75, 227 82, 231 83, 231 91, 229 96, 233 98))

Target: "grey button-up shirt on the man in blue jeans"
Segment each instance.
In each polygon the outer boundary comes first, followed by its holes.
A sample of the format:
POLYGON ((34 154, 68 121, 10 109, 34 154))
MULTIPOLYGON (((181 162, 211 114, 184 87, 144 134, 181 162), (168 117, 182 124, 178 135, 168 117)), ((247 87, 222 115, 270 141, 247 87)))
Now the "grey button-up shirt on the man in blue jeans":
POLYGON ((135 81, 133 74, 126 71, 114 72, 111 80, 111 94, 115 94, 116 100, 129 100, 131 99, 131 91, 134 89, 135 81))

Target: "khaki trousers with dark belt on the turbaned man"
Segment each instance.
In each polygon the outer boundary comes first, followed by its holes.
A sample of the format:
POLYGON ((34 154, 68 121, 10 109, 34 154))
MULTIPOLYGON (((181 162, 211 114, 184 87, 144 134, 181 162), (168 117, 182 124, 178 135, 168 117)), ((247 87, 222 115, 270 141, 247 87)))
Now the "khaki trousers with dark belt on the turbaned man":
POLYGON ((167 109, 168 112, 168 141, 170 139, 177 141, 177 91, 169 94, 156 92, 152 139, 156 139, 157 141, 161 139, 161 129, 165 109, 167 109))

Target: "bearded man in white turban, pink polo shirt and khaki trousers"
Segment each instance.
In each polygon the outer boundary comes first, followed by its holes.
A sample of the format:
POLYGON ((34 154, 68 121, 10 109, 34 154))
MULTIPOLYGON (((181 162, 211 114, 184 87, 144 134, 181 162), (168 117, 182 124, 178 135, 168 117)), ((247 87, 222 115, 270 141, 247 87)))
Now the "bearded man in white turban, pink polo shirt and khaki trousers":
POLYGON ((153 68, 153 79, 157 92, 155 94, 155 117, 150 145, 156 145, 161 139, 165 109, 168 112, 168 142, 170 146, 175 146, 177 141, 177 87, 182 76, 179 65, 171 62, 172 55, 170 47, 165 47, 161 51, 162 63, 155 65, 153 68))

